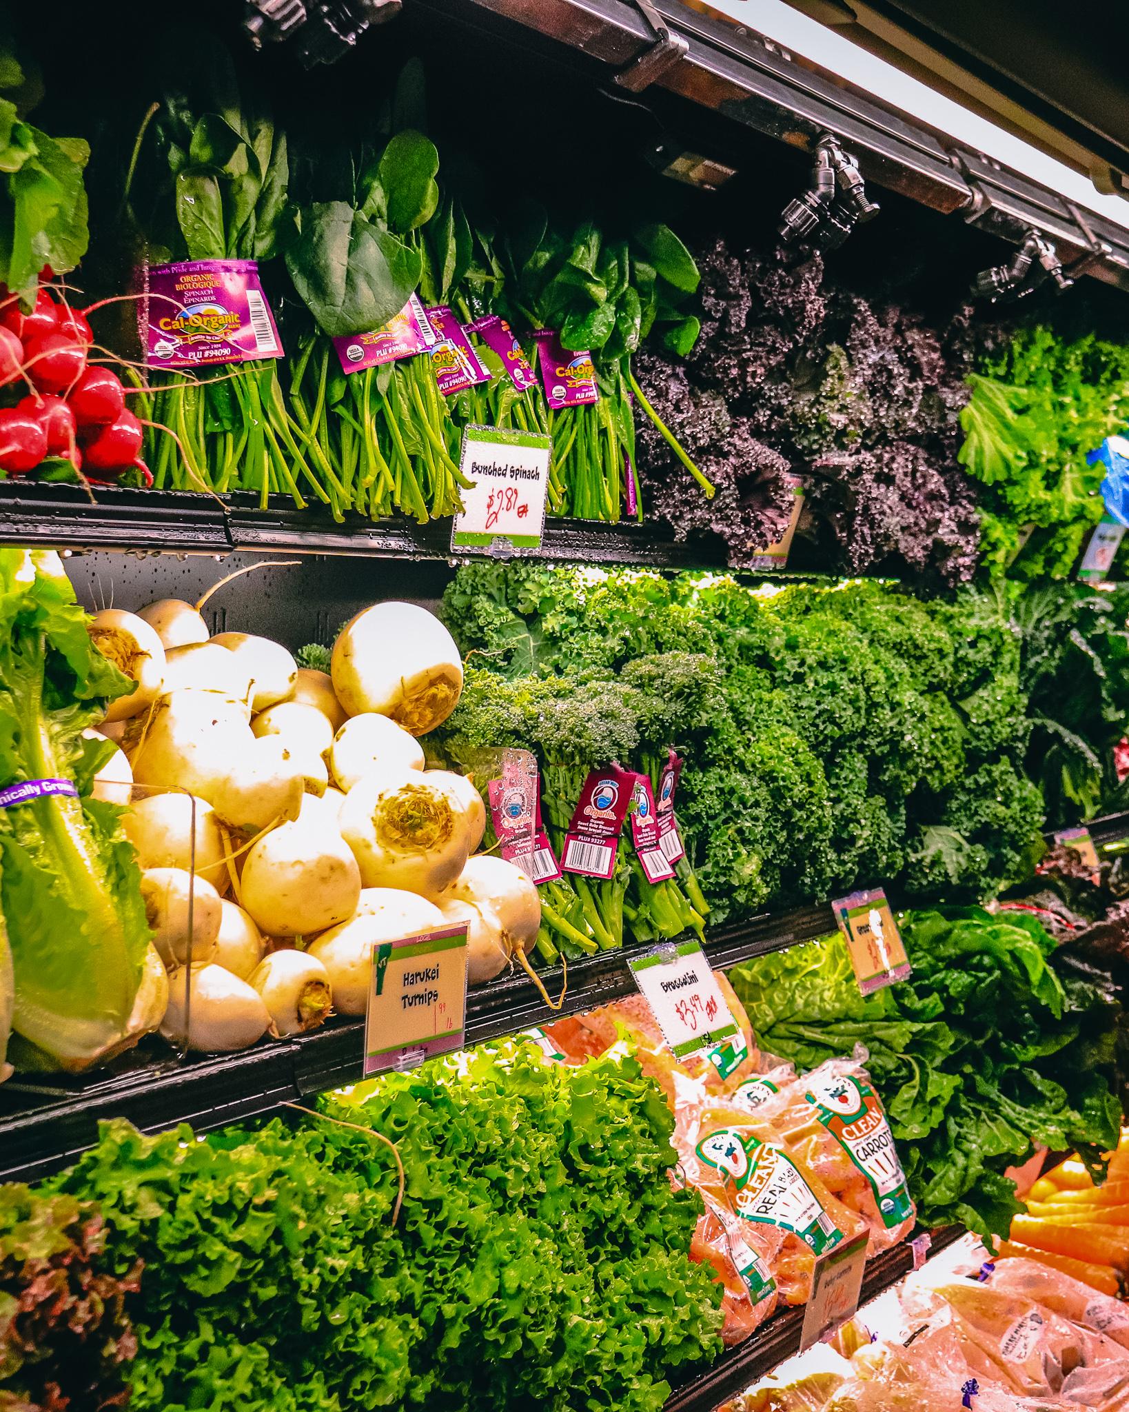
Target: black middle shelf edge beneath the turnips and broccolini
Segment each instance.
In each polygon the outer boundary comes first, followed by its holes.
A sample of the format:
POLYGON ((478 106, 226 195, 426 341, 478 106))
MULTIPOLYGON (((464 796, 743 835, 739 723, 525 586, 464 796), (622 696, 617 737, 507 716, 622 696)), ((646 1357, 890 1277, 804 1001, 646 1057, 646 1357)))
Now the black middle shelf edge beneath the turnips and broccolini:
MULTIPOLYGON (((834 928, 830 907, 796 908, 721 928, 710 938, 714 966, 823 936, 834 928)), ((559 1011, 518 973, 467 997, 467 1043, 512 1035, 529 1025, 577 1014, 634 991, 625 952, 593 956, 569 967, 559 1011)), ((549 994, 562 990, 560 971, 546 971, 549 994)), ((106 1118, 128 1118, 145 1132, 176 1123, 198 1131, 277 1113, 286 1103, 354 1083, 361 1077, 364 1024, 330 1019, 322 1029, 289 1041, 268 1041, 236 1055, 178 1062, 147 1041, 109 1070, 68 1079, 17 1075, 0 1084, 0 1180, 34 1180, 58 1171, 97 1138, 106 1118)))

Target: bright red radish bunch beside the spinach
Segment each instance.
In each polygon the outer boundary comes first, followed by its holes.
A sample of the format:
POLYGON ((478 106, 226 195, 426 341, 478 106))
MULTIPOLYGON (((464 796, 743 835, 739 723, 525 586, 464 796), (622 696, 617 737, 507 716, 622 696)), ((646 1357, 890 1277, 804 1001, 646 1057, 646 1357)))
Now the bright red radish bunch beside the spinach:
POLYGON ((93 340, 82 309, 45 287, 30 313, 14 298, 0 302, 0 387, 34 388, 0 408, 0 472, 23 476, 66 460, 87 480, 113 483, 135 470, 152 484, 140 459, 141 422, 126 407, 120 378, 87 364, 93 340))

